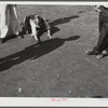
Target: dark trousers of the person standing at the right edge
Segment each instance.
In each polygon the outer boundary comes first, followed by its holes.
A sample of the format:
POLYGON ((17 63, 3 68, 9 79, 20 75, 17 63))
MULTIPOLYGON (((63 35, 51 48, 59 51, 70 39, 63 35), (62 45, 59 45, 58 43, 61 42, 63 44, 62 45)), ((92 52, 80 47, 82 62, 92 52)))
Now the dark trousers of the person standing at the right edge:
POLYGON ((94 52, 102 53, 104 50, 108 51, 108 9, 100 6, 98 30, 99 38, 97 45, 94 48, 94 52))

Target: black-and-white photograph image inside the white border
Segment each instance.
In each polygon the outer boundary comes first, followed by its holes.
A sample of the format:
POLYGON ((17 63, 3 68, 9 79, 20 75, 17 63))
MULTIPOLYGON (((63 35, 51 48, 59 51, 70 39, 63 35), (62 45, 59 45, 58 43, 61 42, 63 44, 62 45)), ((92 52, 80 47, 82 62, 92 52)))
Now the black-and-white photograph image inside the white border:
POLYGON ((0 97, 107 98, 107 3, 0 3, 0 97))

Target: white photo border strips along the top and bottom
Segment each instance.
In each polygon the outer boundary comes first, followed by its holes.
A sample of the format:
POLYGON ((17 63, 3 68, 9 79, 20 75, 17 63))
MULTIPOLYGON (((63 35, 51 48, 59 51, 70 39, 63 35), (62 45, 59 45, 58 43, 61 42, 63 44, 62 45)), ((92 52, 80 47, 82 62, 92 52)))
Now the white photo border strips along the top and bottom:
MULTIPOLYGON (((0 1, 9 4, 42 4, 42 5, 100 5, 106 1, 0 1)), ((64 98, 53 102, 53 97, 0 97, 0 107, 108 107, 108 98, 64 98)))

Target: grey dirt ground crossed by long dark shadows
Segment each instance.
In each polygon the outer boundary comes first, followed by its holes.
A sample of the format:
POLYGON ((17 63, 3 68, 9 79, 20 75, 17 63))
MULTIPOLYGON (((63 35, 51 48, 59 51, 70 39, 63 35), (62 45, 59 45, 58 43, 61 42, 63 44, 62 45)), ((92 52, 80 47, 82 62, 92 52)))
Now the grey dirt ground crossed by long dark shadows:
POLYGON ((98 12, 90 5, 18 5, 19 22, 42 15, 52 27, 42 44, 26 35, 0 44, 1 97, 108 97, 108 57, 85 50, 96 45, 98 12))

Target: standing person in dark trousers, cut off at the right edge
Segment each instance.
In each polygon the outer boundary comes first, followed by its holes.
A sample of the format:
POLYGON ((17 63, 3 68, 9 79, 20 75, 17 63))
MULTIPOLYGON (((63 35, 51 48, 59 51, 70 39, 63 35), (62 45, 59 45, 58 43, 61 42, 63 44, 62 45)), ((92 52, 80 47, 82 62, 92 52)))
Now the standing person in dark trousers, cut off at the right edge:
POLYGON ((98 30, 99 38, 97 45, 93 50, 87 50, 87 55, 97 55, 97 58, 103 58, 108 55, 108 5, 96 6, 99 12, 98 30))

